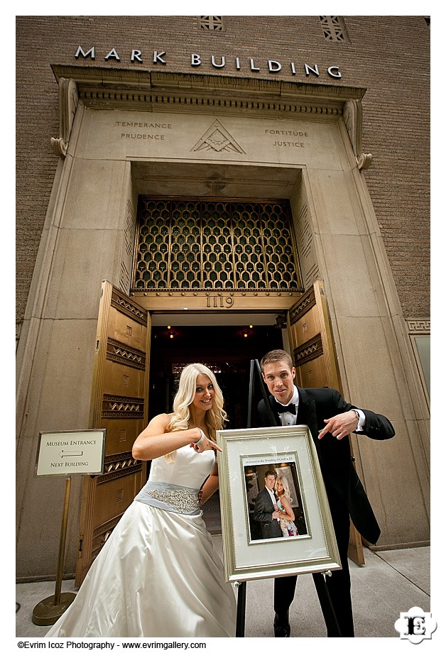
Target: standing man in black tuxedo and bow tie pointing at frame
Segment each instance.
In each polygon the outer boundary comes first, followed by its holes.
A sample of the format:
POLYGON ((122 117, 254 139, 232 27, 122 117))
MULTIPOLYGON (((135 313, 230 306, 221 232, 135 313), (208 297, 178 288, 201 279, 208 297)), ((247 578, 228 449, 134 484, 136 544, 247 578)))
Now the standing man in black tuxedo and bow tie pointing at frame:
MULTIPOLYGON (((261 363, 263 380, 271 396, 269 405, 275 424, 271 424, 265 402, 259 403, 259 418, 263 426, 307 424, 315 442, 330 503, 333 526, 342 569, 327 578, 327 589, 342 637, 354 637, 350 574, 347 559, 350 517, 359 533, 374 544, 380 529, 361 481, 352 464, 348 436, 355 432, 384 440, 395 435, 392 424, 384 415, 360 410, 344 400, 332 388, 298 388, 294 385, 295 368, 291 356, 283 349, 269 351, 261 363)), ((297 576, 275 578, 274 620, 275 637, 290 637, 288 609, 294 598, 297 576)), ((328 637, 339 637, 330 628, 328 637)))

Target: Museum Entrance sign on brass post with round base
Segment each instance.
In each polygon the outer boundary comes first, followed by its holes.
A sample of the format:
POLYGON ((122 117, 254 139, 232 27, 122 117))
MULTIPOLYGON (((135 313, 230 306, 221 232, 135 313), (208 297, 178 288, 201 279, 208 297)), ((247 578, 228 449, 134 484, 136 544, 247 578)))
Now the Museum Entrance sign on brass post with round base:
POLYGON ((106 429, 88 431, 40 432, 35 476, 66 476, 65 499, 60 527, 58 571, 55 593, 43 599, 33 610, 33 623, 52 625, 65 612, 76 594, 61 592, 65 540, 67 537, 68 508, 70 506, 71 476, 96 476, 104 471, 106 429))

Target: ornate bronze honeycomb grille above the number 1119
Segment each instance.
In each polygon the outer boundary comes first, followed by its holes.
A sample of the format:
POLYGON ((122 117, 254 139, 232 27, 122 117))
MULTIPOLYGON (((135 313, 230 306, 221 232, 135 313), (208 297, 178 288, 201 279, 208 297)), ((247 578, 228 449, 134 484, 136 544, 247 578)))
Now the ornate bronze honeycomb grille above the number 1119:
POLYGON ((301 289, 288 202, 140 198, 131 290, 301 289))

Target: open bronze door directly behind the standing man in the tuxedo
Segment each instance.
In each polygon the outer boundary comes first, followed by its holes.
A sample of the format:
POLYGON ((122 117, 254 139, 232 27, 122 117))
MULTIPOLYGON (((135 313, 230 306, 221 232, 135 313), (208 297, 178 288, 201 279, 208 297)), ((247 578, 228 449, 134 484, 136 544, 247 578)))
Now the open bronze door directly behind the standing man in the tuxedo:
MULTIPOLYGON (((302 388, 321 388, 327 385, 342 393, 321 281, 316 281, 290 308, 288 334, 295 361, 296 383, 302 388)), ((357 564, 364 564, 361 535, 351 521, 349 557, 357 564)))

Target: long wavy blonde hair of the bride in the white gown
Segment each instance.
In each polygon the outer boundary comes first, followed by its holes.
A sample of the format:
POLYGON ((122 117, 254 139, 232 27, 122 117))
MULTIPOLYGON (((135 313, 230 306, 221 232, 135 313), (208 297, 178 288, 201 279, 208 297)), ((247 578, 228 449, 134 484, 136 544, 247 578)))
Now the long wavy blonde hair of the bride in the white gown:
POLYGON ((210 378, 214 386, 214 402, 212 408, 207 410, 205 422, 209 429, 210 439, 215 441, 215 432, 222 429, 224 422, 227 422, 227 412, 224 410, 224 399, 214 373, 202 363, 190 363, 185 366, 180 375, 178 393, 173 400, 173 415, 168 423, 169 431, 183 431, 189 428, 190 404, 194 400, 197 390, 197 376, 205 374, 210 378))

